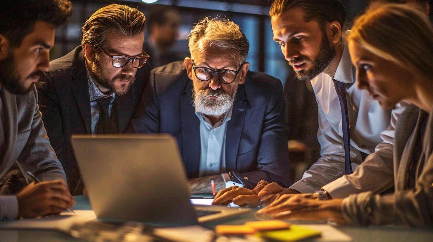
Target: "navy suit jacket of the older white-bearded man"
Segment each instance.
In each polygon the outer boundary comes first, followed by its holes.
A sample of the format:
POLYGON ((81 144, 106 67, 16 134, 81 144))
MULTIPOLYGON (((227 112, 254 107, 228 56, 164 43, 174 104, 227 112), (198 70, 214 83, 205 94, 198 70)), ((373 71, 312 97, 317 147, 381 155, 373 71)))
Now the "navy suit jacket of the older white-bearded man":
MULTIPOLYGON (((200 164, 200 121, 195 114, 192 81, 182 61, 152 70, 149 85, 128 132, 168 133, 179 143, 189 178, 200 164)), ((289 185, 288 128, 284 124, 281 81, 248 72, 239 85, 226 131, 226 170, 254 188, 261 181, 289 185)))

